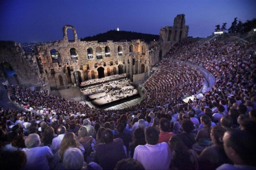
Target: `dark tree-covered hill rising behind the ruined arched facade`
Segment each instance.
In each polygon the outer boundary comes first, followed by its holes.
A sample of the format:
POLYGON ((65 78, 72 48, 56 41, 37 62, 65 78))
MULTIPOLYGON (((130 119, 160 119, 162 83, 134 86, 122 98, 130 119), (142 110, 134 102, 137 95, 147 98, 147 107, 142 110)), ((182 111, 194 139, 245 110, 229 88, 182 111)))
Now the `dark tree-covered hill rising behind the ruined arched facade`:
POLYGON ((106 42, 107 40, 120 41, 127 40, 131 41, 132 39, 144 39, 146 42, 157 41, 159 39, 158 35, 147 34, 147 33, 136 33, 131 31, 115 31, 110 30, 106 33, 99 33, 96 36, 88 36, 81 41, 99 41, 106 42))

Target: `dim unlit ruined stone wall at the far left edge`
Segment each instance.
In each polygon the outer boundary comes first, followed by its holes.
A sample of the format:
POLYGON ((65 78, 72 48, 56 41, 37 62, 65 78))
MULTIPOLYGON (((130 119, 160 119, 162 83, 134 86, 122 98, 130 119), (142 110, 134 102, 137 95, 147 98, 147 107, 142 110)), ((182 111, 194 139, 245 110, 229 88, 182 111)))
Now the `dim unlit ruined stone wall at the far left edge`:
MULTIPOLYGON (((0 63, 3 62, 9 63, 13 68, 19 84, 26 87, 40 86, 42 90, 49 90, 46 75, 40 73, 37 56, 26 54, 20 44, 13 41, 0 41, 0 63)), ((0 79, 10 78, 1 70, 0 79)))

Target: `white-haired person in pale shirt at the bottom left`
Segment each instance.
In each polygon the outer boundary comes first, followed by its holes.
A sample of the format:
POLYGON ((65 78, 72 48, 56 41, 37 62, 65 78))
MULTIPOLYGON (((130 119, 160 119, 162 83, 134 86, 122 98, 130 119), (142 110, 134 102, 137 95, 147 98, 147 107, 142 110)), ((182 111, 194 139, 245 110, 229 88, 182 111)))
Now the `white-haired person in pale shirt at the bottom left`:
POLYGON ((41 144, 38 134, 29 134, 25 139, 26 148, 22 149, 26 153, 26 170, 49 170, 49 160, 53 157, 49 147, 39 147, 41 144))

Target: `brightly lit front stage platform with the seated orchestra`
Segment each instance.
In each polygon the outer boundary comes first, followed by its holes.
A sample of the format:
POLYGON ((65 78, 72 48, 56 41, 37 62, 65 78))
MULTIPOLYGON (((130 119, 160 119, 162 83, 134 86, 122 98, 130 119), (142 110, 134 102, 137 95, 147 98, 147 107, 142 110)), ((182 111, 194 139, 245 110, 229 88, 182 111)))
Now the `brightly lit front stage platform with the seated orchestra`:
POLYGON ((109 108, 139 97, 138 90, 133 85, 124 86, 108 93, 102 92, 88 96, 89 101, 98 108, 109 108))

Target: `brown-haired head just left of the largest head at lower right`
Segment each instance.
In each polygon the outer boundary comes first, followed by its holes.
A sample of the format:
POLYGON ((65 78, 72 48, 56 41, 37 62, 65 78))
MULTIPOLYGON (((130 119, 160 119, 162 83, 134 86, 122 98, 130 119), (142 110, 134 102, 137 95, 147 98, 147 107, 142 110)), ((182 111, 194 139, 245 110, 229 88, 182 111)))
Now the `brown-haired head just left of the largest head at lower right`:
POLYGON ((211 130, 211 139, 214 144, 223 144, 222 138, 226 129, 222 126, 214 126, 211 130))

